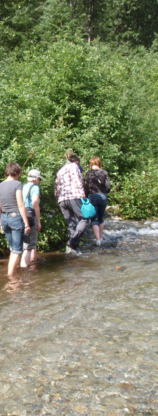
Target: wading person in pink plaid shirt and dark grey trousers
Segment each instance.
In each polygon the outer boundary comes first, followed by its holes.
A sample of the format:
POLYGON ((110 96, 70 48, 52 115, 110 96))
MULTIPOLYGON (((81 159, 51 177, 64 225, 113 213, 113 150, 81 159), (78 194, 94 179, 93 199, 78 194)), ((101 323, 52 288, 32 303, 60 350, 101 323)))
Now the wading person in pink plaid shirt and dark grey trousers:
POLYGON ((89 221, 83 218, 80 209, 80 198, 85 198, 85 191, 79 164, 80 157, 70 156, 69 161, 58 171, 55 181, 55 197, 68 225, 67 252, 71 249, 75 250, 76 254, 80 254, 79 243, 89 224, 89 221))

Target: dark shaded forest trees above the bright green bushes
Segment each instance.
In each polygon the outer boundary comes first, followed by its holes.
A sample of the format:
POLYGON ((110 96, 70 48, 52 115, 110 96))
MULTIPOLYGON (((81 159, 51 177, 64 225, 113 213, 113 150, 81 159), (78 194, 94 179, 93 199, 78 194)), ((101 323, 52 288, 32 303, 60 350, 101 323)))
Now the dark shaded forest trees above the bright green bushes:
POLYGON ((0 16, 0 45, 8 49, 76 34, 150 48, 158 31, 157 0, 4 0, 0 16))

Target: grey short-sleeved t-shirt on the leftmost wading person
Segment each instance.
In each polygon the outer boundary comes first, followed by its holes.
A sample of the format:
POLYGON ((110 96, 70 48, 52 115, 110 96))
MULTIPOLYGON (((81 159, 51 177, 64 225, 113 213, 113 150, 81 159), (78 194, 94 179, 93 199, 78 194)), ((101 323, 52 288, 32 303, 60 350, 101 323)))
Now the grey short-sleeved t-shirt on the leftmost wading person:
POLYGON ((0 202, 2 212, 19 212, 16 191, 22 190, 19 180, 8 180, 0 183, 0 202))

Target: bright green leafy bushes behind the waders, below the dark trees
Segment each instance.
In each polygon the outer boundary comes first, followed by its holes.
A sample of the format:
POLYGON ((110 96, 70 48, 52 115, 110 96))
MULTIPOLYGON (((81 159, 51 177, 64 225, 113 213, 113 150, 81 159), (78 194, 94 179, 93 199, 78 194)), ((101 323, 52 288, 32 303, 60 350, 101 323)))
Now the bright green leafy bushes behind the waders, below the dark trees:
POLYGON ((154 172, 146 166, 150 159, 156 166, 158 155, 157 61, 157 53, 142 47, 112 51, 65 39, 1 60, 1 180, 11 161, 23 167, 23 184, 30 168, 42 172, 39 250, 63 248, 67 241, 54 185, 69 149, 80 155, 84 175, 92 156, 102 159, 113 183, 109 201, 123 216, 157 215, 157 182, 150 197, 146 185, 154 172))

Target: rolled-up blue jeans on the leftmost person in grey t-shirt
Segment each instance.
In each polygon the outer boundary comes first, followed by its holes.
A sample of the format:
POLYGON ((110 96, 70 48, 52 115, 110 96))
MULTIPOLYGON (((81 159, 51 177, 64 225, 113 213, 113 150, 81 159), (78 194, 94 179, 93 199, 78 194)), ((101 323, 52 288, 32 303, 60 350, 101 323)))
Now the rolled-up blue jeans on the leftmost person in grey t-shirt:
POLYGON ((6 234, 12 254, 21 254, 23 251, 24 221, 19 212, 1 214, 1 227, 6 234))

